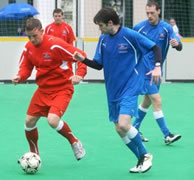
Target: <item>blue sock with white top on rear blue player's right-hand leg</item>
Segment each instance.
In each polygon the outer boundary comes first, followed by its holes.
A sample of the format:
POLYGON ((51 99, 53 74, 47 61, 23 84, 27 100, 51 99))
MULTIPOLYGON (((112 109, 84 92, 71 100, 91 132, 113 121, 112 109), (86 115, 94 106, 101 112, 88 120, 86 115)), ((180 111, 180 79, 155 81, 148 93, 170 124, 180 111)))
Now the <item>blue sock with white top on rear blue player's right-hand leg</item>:
POLYGON ((168 136, 169 129, 166 125, 162 111, 156 111, 156 112, 153 112, 153 114, 154 114, 154 118, 156 119, 156 122, 158 123, 158 126, 160 127, 160 130, 162 131, 164 137, 168 136))

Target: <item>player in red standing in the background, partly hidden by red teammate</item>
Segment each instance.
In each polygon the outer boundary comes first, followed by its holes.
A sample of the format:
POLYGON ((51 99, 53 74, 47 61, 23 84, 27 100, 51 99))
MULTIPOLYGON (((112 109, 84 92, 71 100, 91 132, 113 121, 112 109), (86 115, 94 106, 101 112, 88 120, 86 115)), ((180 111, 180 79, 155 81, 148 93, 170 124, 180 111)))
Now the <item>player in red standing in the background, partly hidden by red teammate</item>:
MULTIPOLYGON (((54 22, 45 28, 45 34, 52 35, 63 39, 65 42, 72 44, 75 41, 75 35, 71 26, 63 21, 63 11, 54 9, 54 22)), ((72 62, 68 62, 68 66, 72 69, 72 62)), ((81 62, 77 62, 76 75, 71 77, 73 84, 78 84, 84 78, 87 72, 87 66, 81 62)))

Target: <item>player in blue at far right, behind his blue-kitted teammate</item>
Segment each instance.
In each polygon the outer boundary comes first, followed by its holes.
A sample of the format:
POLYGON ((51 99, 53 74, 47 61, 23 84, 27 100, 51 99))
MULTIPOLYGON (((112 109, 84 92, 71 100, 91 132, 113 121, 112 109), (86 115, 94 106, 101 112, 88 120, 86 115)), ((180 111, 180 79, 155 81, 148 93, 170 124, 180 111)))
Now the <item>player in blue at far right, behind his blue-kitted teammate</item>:
MULTIPOLYGON (((175 48, 177 51, 182 50, 182 43, 173 32, 173 29, 170 24, 161 21, 159 19, 160 14, 160 6, 155 1, 149 1, 146 4, 146 14, 148 19, 140 22, 134 27, 134 30, 141 33, 145 37, 149 38, 150 40, 154 41, 162 50, 162 63, 157 63, 157 65, 161 65, 161 68, 163 66, 163 63, 166 59, 169 46, 171 45, 173 48, 175 48)), ((145 62, 149 61, 150 59, 153 59, 152 53, 148 53, 147 56, 145 56, 145 62)), ((148 62, 148 71, 150 69, 153 69, 155 67, 155 62, 152 60, 152 65, 149 65, 148 62)), ((153 105, 153 115, 156 119, 157 124, 159 125, 163 135, 164 135, 164 142, 166 145, 169 145, 181 138, 181 135, 179 134, 172 134, 169 131, 169 128, 167 127, 167 124, 164 119, 164 115, 161 109, 161 96, 159 94, 159 88, 160 85, 156 85, 154 82, 152 85, 150 85, 150 76, 146 76, 145 81, 145 91, 144 91, 144 97, 143 102, 139 106, 138 109, 138 118, 135 119, 133 125, 136 127, 136 129, 139 130, 140 125, 148 111, 149 106, 153 105)), ((144 138, 142 136, 143 141, 148 141, 147 138, 144 138)))

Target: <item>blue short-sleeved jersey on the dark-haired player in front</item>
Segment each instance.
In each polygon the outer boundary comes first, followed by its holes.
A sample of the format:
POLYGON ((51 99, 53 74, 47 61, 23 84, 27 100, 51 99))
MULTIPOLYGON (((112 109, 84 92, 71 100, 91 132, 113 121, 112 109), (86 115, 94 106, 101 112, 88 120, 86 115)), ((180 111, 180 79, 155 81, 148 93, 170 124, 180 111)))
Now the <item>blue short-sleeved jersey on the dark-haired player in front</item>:
POLYGON ((126 27, 115 35, 100 36, 94 60, 103 66, 109 102, 140 94, 145 79, 142 57, 153 46, 154 42, 126 27))

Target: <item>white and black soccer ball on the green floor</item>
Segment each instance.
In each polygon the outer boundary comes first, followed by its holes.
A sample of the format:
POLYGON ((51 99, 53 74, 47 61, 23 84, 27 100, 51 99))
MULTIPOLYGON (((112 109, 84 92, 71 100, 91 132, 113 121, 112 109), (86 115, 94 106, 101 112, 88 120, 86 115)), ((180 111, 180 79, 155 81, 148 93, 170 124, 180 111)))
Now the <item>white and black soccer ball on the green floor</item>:
POLYGON ((35 174, 41 167, 40 156, 33 152, 25 153, 18 163, 27 174, 35 174))

